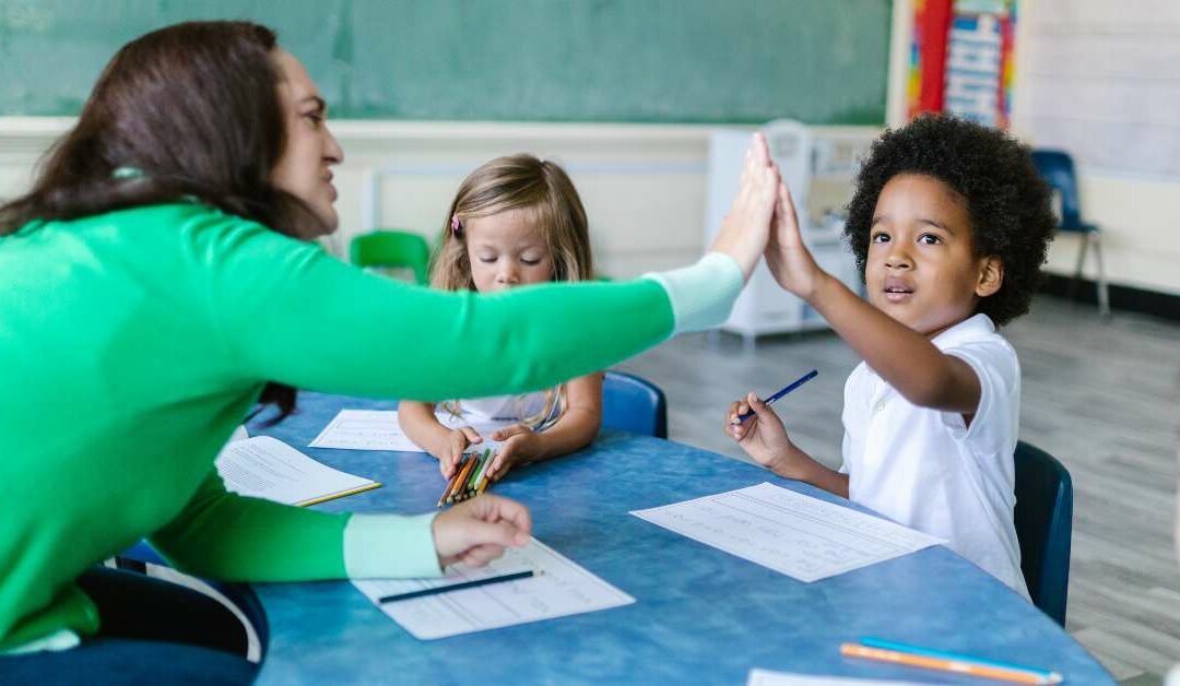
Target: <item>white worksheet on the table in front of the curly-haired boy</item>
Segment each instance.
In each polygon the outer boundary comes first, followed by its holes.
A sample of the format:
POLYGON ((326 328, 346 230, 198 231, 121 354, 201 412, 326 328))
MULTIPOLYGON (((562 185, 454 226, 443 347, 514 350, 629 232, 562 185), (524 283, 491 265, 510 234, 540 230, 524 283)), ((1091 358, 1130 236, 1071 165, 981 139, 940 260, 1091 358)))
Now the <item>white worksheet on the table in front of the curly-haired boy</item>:
POLYGON ((804 582, 944 542, 769 483, 631 514, 804 582))

